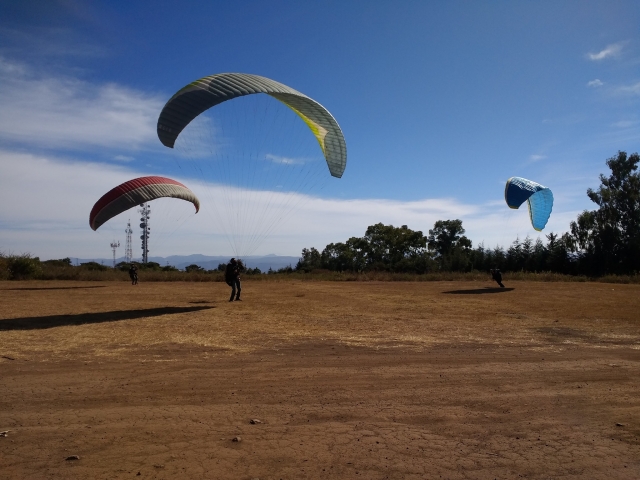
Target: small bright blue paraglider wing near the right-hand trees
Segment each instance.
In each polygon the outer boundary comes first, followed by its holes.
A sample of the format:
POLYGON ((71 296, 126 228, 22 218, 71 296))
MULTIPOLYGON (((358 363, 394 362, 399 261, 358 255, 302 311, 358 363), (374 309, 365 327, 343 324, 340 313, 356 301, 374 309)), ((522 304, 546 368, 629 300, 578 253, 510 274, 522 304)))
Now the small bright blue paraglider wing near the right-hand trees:
POLYGON ((504 189, 504 199, 509 208, 519 208, 525 200, 534 229, 541 231, 549 221, 553 209, 553 193, 539 183, 521 177, 511 177, 504 189))

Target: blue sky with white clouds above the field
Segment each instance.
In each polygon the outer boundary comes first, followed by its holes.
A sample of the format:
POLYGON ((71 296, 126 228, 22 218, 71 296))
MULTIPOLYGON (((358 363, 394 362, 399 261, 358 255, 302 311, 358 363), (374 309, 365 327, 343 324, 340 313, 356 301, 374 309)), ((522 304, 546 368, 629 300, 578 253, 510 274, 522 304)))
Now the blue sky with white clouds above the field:
MULTIPOLYGON (((504 204, 511 176, 550 187, 545 233, 566 231, 605 160, 640 150, 638 25, 635 1, 1 2, 0 250, 109 256, 125 220, 92 232, 91 206, 135 176, 189 180, 157 115, 221 72, 309 95, 347 141, 343 178, 256 254, 379 221, 426 232, 461 218, 474 246, 535 237, 504 204)), ((217 227, 186 218, 152 254, 232 254, 217 227)))

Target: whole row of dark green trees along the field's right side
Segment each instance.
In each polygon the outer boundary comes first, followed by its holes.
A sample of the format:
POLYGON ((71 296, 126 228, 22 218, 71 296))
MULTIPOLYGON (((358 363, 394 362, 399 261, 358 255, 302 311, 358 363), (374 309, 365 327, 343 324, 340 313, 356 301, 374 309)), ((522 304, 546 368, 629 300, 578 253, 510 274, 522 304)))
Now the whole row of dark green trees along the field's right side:
POLYGON ((322 251, 304 248, 297 271, 388 271, 407 273, 502 271, 556 272, 570 275, 636 275, 640 272, 640 156, 619 151, 600 175, 600 187, 587 195, 597 208, 585 210, 569 231, 527 236, 508 248, 473 248, 461 220, 438 220, 424 235, 407 225, 378 223, 363 237, 330 243, 322 251))

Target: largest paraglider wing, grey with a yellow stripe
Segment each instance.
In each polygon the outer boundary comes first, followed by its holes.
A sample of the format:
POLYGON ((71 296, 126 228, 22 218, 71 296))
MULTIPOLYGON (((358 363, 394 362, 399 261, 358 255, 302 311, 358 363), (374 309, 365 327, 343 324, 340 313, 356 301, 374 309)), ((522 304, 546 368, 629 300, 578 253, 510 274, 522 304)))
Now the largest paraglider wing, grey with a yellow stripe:
POLYGON ((227 100, 265 93, 284 103, 307 124, 316 137, 331 175, 342 177, 347 147, 342 130, 329 111, 315 100, 286 85, 258 75, 221 73, 201 78, 176 93, 158 118, 158 138, 173 148, 180 132, 198 115, 227 100))

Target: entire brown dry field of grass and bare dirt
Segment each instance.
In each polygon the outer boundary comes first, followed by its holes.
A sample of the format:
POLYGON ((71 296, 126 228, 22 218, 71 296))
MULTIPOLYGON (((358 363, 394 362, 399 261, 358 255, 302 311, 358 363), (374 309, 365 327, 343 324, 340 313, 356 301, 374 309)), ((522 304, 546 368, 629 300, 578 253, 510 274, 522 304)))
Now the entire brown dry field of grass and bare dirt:
POLYGON ((640 478, 640 286, 505 283, 1 282, 0 478, 640 478))

